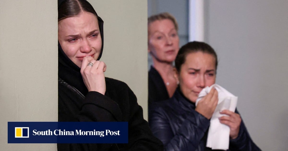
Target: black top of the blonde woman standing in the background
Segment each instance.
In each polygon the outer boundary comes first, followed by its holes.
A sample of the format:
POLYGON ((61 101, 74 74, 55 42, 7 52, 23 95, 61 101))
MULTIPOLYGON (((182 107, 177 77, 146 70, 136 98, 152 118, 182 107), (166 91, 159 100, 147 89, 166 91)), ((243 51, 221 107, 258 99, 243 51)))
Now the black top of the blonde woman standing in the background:
POLYGON ((150 67, 148 72, 148 104, 169 99, 165 83, 159 72, 150 67))

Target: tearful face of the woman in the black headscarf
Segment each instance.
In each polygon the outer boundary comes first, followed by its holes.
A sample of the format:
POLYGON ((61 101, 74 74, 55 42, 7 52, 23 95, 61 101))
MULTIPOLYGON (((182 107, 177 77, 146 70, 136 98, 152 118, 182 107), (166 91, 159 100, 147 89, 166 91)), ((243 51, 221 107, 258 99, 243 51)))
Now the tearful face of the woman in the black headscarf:
POLYGON ((81 68, 86 56, 98 59, 102 39, 97 17, 88 12, 58 22, 58 41, 68 58, 81 68))

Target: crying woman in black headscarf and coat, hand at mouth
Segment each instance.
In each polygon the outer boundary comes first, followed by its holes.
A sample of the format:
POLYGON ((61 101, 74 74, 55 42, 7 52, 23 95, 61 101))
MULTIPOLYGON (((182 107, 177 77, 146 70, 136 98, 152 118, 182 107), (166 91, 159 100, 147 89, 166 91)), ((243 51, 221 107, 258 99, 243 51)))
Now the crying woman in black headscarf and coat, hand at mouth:
POLYGON ((88 1, 58 1, 58 42, 58 121, 128 122, 128 144, 57 144, 58 150, 162 150, 131 89, 104 76, 103 20, 88 1))

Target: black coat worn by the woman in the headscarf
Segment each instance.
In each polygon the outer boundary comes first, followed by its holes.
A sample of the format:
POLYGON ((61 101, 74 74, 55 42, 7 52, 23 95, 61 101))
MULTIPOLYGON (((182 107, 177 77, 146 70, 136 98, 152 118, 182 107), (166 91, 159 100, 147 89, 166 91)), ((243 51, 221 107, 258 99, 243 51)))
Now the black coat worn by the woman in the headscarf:
POLYGON ((105 95, 90 91, 84 96, 59 78, 58 121, 126 121, 128 144, 57 144, 58 150, 163 150, 128 85, 111 78, 105 81, 105 95))

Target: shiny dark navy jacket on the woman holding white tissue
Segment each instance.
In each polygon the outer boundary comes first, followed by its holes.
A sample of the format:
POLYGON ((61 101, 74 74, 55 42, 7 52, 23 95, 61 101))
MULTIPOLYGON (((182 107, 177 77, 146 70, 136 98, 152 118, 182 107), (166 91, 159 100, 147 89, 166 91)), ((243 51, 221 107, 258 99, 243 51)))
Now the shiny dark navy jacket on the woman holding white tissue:
MULTIPOLYGON (((210 121, 195 111, 195 104, 186 99, 179 89, 169 100, 156 102, 152 106, 149 125, 166 150, 211 150, 206 147, 210 121)), ((253 143, 243 122, 238 137, 230 139, 229 150, 260 150, 253 143)))

